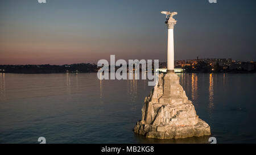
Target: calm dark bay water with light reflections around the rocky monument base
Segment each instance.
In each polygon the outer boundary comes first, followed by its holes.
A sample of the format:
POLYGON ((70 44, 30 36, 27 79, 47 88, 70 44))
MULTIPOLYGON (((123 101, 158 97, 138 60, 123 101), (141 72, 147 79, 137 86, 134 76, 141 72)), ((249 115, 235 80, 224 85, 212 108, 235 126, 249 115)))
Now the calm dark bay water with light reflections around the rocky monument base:
MULTIPOLYGON (((0 73, 0 143, 208 143, 209 136, 145 139, 133 132, 146 80, 96 73, 0 73)), ((256 143, 256 74, 178 74, 217 143, 256 143)))

